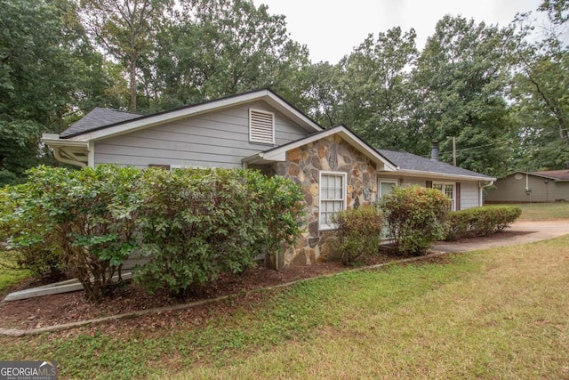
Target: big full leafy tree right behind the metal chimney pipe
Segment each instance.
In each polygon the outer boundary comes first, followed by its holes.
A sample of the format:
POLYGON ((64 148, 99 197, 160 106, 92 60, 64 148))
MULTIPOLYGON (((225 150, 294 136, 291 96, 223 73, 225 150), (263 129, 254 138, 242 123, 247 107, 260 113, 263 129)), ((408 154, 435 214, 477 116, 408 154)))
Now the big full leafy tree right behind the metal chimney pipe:
POLYGON ((511 128, 504 88, 509 78, 510 28, 476 24, 446 15, 427 40, 413 79, 421 99, 417 120, 427 153, 429 141, 441 141, 441 158, 480 173, 507 170, 507 132, 511 128))

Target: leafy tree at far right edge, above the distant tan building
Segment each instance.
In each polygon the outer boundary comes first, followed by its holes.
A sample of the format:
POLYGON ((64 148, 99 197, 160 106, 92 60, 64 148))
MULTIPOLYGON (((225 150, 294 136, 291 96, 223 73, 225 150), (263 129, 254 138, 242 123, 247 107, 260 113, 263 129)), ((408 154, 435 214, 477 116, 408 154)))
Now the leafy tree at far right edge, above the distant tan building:
POLYGON ((560 16, 549 12, 549 28, 535 36, 531 13, 518 15, 513 54, 517 73, 510 97, 517 129, 512 170, 564 168, 569 163, 569 50, 563 44, 560 16))

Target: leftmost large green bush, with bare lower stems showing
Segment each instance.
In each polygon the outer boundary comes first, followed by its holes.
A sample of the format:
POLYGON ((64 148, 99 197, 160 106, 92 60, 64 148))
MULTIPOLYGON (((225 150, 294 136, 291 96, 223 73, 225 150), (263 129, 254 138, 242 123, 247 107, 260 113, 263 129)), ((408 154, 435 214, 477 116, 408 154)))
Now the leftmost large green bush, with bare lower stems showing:
POLYGON ((88 298, 99 299, 137 247, 139 176, 135 168, 118 166, 30 170, 28 182, 8 194, 17 206, 5 222, 22 228, 9 244, 40 253, 57 246, 60 264, 73 271, 88 298))

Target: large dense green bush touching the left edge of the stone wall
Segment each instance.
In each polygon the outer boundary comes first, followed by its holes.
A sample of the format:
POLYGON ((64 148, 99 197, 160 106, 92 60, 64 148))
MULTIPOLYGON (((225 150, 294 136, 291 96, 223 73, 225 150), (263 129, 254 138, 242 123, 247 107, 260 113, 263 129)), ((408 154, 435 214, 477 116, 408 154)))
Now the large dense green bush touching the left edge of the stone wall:
POLYGON ((136 279, 149 291, 185 295, 220 272, 241 272, 299 232, 302 194, 293 182, 227 169, 148 169, 140 209, 136 279))

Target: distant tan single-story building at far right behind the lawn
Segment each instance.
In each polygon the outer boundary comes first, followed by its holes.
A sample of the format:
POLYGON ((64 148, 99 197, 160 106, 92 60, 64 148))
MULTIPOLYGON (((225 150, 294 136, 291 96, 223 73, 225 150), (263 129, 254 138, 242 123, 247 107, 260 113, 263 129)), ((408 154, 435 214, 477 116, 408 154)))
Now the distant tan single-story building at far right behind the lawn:
POLYGON ((564 202, 569 200, 569 169, 514 172, 488 190, 488 203, 564 202))

